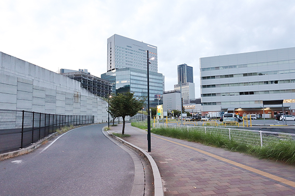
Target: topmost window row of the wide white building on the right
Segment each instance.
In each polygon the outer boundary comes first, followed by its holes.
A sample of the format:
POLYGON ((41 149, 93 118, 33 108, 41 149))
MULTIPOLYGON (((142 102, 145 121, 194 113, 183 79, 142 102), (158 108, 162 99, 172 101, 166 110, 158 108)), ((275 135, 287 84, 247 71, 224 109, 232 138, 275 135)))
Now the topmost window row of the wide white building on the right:
POLYGON ((289 64, 289 63, 295 63, 295 60, 272 61, 272 62, 266 62, 266 63, 250 63, 250 64, 242 64, 242 65, 201 68, 201 72, 212 71, 212 70, 234 69, 234 68, 259 67, 259 66, 268 66, 268 65, 282 65, 282 64, 289 64))

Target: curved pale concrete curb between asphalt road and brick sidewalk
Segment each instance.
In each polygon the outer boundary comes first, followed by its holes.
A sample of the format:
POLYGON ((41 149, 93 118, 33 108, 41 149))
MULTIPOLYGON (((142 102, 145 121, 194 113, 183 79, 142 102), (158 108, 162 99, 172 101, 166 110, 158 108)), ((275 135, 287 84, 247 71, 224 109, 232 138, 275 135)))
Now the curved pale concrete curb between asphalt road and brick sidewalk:
POLYGON ((158 169, 158 166, 156 164, 156 162, 153 160, 153 158, 148 154, 148 152, 146 152, 145 150, 143 150, 140 147, 137 147, 129 142, 126 142, 125 140, 116 137, 114 135, 112 135, 111 133, 109 133, 108 131, 106 131, 111 137, 115 138, 118 142, 121 142, 123 144, 128 145, 129 147, 131 147, 132 149, 136 150, 137 152, 142 153, 145 157, 147 157, 148 162, 151 166, 151 170, 152 170, 152 175, 153 175, 153 179, 154 179, 154 196, 164 196, 164 192, 163 192, 163 185, 162 185, 162 179, 161 179, 161 175, 158 169))

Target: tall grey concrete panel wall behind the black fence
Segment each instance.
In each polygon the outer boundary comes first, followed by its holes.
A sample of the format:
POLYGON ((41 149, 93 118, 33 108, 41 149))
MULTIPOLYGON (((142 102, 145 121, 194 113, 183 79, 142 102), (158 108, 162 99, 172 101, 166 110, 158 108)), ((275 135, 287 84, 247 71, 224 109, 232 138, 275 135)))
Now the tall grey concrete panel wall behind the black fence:
POLYGON ((94 115, 107 121, 107 102, 81 83, 0 52, 0 109, 94 115))

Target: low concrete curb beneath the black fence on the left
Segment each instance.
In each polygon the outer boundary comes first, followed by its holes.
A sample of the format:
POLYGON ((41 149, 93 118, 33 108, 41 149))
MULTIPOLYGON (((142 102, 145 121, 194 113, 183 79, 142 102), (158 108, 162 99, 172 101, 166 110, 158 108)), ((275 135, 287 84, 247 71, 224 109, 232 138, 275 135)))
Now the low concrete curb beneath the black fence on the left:
POLYGON ((39 140, 38 142, 33 143, 29 147, 22 148, 22 149, 19 149, 19 150, 15 150, 15 151, 12 151, 12 152, 6 152, 6 153, 3 153, 3 154, 0 154, 0 161, 5 160, 5 159, 9 159, 9 158, 13 158, 13 157, 17 157, 17 156, 21 156, 21 155, 24 155, 24 154, 28 154, 31 151, 33 151, 34 149, 40 147, 44 142, 50 140, 52 137, 54 137, 57 134, 58 134, 58 132, 52 133, 52 134, 46 136, 45 138, 39 140))

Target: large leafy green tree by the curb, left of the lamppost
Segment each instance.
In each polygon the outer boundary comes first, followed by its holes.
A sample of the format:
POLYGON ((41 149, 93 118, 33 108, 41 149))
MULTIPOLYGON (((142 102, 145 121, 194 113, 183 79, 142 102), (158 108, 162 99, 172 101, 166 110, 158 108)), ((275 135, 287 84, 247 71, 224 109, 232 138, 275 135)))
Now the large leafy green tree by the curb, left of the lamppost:
POLYGON ((133 117, 144 106, 145 98, 134 97, 133 93, 118 93, 110 98, 109 112, 113 117, 122 117, 123 128, 122 135, 125 133, 125 117, 133 117))

